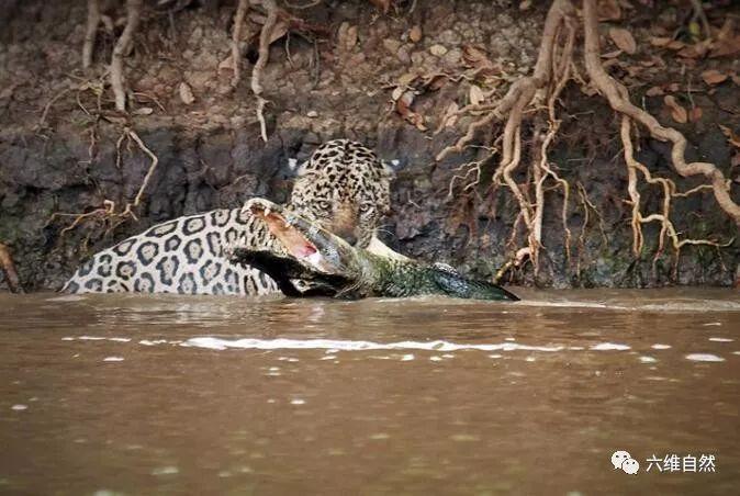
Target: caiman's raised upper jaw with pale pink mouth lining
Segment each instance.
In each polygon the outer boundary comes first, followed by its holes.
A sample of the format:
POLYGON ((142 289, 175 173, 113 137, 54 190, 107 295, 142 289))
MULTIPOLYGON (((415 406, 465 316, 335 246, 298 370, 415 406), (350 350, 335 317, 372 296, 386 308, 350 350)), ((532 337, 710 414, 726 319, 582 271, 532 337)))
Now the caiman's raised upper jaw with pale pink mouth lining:
POLYGON ((337 250, 332 247, 326 235, 302 218, 280 212, 282 208, 278 205, 271 208, 266 203, 250 201, 246 206, 267 225, 285 251, 301 263, 326 274, 338 273, 343 269, 337 250))

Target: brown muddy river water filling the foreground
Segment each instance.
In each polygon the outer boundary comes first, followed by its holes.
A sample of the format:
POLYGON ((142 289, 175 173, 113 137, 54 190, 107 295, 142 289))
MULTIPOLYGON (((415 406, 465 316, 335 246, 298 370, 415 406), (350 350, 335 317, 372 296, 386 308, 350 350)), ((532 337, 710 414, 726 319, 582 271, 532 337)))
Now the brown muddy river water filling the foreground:
POLYGON ((519 293, 0 295, 0 493, 738 494, 738 292, 519 293))

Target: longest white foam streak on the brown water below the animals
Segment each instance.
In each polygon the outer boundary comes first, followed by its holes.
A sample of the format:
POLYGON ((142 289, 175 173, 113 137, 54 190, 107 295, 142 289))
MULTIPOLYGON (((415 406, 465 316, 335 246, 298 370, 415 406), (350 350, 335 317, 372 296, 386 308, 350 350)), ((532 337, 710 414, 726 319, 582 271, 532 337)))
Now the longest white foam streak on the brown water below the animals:
MULTIPOLYGON (((338 339, 221 339, 213 337, 190 338, 181 346, 194 348, 208 348, 212 350, 226 350, 228 348, 257 349, 257 350, 330 350, 338 351, 367 351, 367 350, 422 350, 422 351, 458 351, 458 350, 479 350, 479 351, 562 351, 563 346, 529 346, 516 342, 482 343, 482 345, 462 345, 450 341, 397 341, 397 342, 374 342, 374 341, 355 341, 338 339)), ((616 345, 624 347, 625 345, 616 345)), ((617 349, 629 349, 617 348, 617 349)), ((328 352, 328 351, 327 351, 328 352)))

